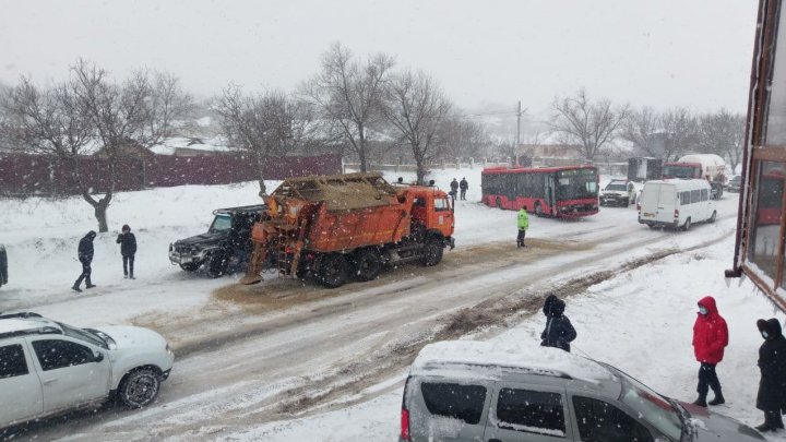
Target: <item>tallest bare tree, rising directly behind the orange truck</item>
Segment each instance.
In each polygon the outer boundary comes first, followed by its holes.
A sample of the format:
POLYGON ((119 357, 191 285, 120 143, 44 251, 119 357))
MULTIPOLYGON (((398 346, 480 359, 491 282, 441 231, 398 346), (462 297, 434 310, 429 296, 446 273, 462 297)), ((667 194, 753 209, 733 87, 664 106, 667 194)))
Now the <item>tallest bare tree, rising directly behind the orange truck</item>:
POLYGON ((381 116, 381 98, 394 60, 384 53, 365 63, 353 60, 349 49, 335 43, 322 56, 322 71, 306 82, 302 95, 320 111, 331 138, 344 140, 368 168, 369 141, 381 116))

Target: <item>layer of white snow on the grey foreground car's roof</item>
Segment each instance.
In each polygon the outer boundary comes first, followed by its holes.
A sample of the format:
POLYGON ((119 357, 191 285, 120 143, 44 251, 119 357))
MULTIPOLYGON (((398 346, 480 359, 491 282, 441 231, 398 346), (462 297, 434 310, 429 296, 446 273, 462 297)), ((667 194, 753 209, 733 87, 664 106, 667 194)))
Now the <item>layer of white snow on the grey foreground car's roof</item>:
MULTIPOLYGON (((593 383, 615 379, 615 375, 599 363, 558 348, 541 347, 536 344, 477 341, 443 341, 429 344, 420 350, 413 362, 412 372, 446 368, 451 373, 455 373, 456 365, 521 369, 538 374, 569 375, 593 383)), ((473 371, 469 367, 467 370, 473 371)))

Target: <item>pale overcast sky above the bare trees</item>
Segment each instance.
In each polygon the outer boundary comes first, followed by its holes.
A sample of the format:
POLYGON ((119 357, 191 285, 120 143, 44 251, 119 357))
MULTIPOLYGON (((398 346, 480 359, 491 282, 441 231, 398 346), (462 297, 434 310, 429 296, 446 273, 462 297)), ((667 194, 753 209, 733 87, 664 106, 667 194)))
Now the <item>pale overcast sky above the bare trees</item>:
POLYGON ((146 65, 212 96, 294 89, 341 41, 422 69, 464 108, 540 111, 586 87, 656 108, 745 112, 754 0, 0 0, 0 81, 60 80, 83 57, 146 65))

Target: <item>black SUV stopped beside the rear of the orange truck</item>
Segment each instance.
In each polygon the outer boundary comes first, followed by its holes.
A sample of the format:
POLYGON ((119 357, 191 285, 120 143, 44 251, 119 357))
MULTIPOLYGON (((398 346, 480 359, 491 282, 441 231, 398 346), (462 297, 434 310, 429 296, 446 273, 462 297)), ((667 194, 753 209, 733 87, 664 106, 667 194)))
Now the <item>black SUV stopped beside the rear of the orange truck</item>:
POLYGON ((243 271, 251 258, 251 228, 261 220, 266 204, 213 211, 213 223, 205 234, 169 244, 169 261, 187 272, 204 266, 207 276, 243 271))

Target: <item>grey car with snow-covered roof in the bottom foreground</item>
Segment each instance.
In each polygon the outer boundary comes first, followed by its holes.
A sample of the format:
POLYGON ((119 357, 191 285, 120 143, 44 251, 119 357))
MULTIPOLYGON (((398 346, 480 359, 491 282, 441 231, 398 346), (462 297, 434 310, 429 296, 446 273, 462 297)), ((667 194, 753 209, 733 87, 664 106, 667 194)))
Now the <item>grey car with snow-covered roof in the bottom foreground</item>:
POLYGON ((400 442, 752 442, 754 429, 663 396, 557 348, 456 341, 424 347, 404 387, 400 442))

